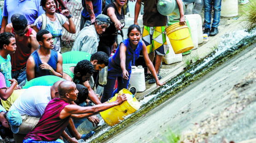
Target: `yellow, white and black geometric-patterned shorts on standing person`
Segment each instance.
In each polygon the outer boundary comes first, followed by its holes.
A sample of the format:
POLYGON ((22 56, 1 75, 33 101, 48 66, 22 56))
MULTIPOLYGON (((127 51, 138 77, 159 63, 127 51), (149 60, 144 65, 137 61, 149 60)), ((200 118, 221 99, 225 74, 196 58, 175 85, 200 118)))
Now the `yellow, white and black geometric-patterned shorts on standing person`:
POLYGON ((143 27, 142 40, 144 41, 147 52, 156 50, 157 55, 165 55, 168 51, 166 41, 166 26, 161 27, 143 27))

